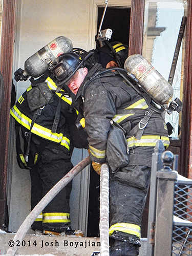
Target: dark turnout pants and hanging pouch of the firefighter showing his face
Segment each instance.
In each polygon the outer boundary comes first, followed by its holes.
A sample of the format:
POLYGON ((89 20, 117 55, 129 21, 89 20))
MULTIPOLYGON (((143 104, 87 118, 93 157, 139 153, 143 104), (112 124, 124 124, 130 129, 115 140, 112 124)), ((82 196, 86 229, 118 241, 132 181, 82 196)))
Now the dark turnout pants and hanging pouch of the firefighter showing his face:
POLYGON ((153 153, 154 147, 139 146, 127 154, 122 131, 110 131, 106 148, 110 166, 110 238, 135 244, 136 249, 140 246, 153 153))

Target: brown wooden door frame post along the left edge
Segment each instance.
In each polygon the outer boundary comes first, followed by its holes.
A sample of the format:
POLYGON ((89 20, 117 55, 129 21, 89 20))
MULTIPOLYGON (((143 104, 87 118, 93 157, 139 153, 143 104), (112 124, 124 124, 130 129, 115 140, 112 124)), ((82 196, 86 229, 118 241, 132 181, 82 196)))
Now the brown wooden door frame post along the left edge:
POLYGON ((6 181, 16 0, 3 1, 0 71, 4 98, 0 112, 0 229, 5 229, 6 181))

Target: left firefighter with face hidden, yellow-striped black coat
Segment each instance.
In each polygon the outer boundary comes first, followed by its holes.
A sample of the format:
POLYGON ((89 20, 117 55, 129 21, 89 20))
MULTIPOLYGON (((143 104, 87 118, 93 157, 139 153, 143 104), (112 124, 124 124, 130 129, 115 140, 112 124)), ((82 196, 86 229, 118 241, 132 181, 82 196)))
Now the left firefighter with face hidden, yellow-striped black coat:
MULTIPOLYGON (((57 93, 54 77, 49 75, 47 71, 39 79, 33 79, 11 109, 15 119, 17 161, 21 168, 30 169, 31 209, 73 168, 73 147, 85 143, 86 148, 87 144, 86 133, 78 132, 75 126, 78 112, 71 107, 72 98, 61 88, 57 93), (24 151, 20 147, 20 130, 24 151)), ((71 189, 72 182, 45 207, 32 224, 36 233, 83 236, 81 231, 71 229, 71 189)))

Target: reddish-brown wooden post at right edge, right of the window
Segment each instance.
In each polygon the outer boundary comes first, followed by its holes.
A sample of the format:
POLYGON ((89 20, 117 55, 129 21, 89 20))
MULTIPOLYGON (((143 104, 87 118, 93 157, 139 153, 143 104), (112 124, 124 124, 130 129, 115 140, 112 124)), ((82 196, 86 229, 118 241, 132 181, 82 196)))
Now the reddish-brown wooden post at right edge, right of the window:
POLYGON ((192 1, 188 1, 181 124, 180 174, 192 179, 192 1))

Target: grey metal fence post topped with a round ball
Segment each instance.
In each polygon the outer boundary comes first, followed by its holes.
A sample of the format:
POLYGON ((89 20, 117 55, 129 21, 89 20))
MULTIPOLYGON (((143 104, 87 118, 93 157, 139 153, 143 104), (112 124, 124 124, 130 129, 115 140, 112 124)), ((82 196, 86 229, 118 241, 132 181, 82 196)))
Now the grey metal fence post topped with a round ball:
POLYGON ((154 256, 172 255, 174 190, 177 172, 170 166, 174 162, 174 154, 165 151, 161 155, 163 169, 157 172, 157 204, 155 222, 154 256))

